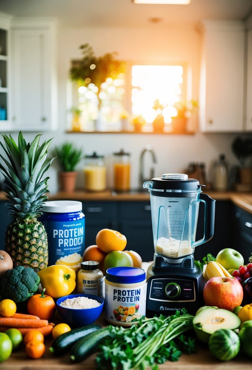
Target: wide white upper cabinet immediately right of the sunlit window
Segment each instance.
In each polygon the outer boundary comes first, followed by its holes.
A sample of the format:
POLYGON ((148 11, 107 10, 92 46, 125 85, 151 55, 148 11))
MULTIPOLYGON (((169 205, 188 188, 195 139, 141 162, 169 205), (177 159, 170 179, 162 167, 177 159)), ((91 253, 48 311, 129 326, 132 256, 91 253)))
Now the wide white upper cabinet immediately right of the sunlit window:
POLYGON ((202 22, 200 129, 241 132, 244 127, 245 27, 239 21, 202 22))

